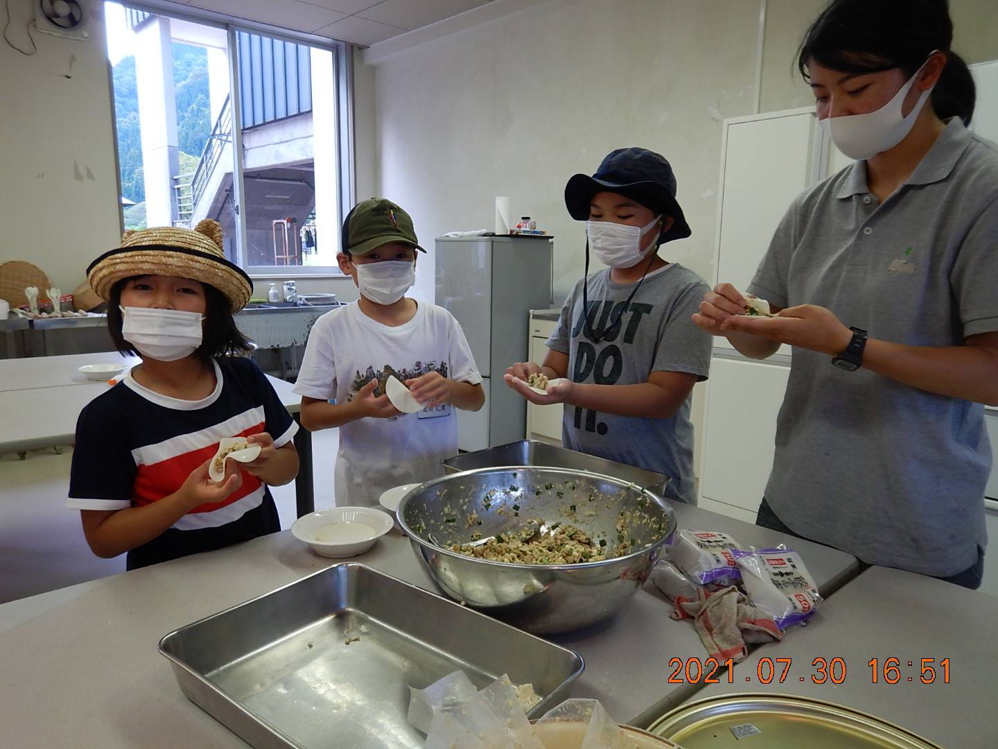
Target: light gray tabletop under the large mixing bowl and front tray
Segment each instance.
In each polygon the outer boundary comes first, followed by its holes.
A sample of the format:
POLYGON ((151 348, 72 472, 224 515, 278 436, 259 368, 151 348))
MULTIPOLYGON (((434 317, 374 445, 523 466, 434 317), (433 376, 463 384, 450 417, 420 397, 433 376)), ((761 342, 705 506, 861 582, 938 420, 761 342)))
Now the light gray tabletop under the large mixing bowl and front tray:
MULTIPOLYGON (((700 510, 683 518, 731 528, 743 542, 785 541, 773 531, 700 510)), ((855 559, 810 544, 801 549, 822 585, 855 559)), ((367 564, 434 589, 408 540, 393 531, 366 554, 367 564)), ((289 532, 177 559, 0 606, 0 704, 17 721, 0 721, 0 746, 241 746, 242 742, 182 694, 157 651, 168 632, 268 592, 333 560, 316 556, 289 532)), ((574 695, 600 699, 619 721, 661 712, 698 687, 670 684, 669 659, 705 657, 689 621, 669 618, 672 604, 650 583, 615 617, 551 639, 580 652, 586 670, 574 695)), ((807 639, 807 630, 788 636, 807 639)))

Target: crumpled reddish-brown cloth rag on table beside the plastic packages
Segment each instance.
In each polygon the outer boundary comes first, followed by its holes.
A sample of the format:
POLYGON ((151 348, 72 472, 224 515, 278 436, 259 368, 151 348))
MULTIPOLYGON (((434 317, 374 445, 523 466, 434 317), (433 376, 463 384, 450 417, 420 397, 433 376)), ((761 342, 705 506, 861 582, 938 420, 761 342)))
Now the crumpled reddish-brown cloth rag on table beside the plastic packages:
POLYGON ((708 656, 719 662, 733 658, 741 663, 749 653, 749 643, 783 638, 776 623, 734 585, 714 593, 701 588, 697 600, 677 599, 676 607, 693 617, 708 656))

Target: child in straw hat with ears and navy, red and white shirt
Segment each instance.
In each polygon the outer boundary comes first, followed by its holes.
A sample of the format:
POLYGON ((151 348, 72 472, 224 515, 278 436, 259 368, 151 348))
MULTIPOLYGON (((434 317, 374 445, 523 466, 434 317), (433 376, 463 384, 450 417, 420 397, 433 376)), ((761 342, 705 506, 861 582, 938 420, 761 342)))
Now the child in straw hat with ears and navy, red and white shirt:
POLYGON ((226 260, 222 228, 130 232, 87 269, 109 303, 119 351, 141 365, 80 413, 67 506, 98 556, 129 569, 280 530, 267 484, 298 469, 297 425, 250 359, 233 320, 250 277, 226 260), (210 464, 223 437, 259 445, 250 462, 210 464))

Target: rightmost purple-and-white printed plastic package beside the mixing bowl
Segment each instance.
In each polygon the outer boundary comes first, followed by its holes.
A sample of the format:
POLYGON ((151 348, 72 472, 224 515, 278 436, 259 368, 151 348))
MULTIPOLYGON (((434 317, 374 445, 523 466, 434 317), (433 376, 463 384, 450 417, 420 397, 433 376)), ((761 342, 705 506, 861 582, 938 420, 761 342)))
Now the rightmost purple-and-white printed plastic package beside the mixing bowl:
POLYGON ((822 598, 803 559, 787 548, 735 550, 743 587, 751 602, 780 629, 814 615, 822 598))

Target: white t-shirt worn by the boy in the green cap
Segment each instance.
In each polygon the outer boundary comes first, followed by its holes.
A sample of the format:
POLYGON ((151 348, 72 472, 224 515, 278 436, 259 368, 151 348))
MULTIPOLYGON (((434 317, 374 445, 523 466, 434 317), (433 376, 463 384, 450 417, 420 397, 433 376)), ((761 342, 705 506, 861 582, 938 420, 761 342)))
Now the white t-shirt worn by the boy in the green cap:
MULTIPOLYGON (((446 310, 420 302, 412 320, 391 328, 353 303, 315 321, 294 391, 345 403, 388 368, 402 381, 434 371, 458 382, 482 381, 461 327, 446 310)), ((457 414, 450 404, 345 423, 339 427, 336 504, 376 505, 392 486, 442 475, 440 461, 456 454, 457 414)))

